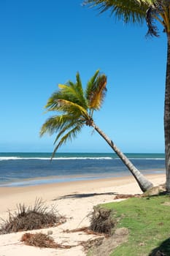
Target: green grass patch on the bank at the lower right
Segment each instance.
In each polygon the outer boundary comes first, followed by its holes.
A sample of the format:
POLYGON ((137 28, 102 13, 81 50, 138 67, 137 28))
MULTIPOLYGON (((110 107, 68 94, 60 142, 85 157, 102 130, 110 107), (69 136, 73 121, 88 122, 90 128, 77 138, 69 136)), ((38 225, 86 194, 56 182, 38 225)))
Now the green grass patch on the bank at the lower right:
MULTIPOLYGON (((170 255, 170 197, 130 198, 102 207, 114 210, 117 227, 127 227, 128 242, 121 244, 110 256, 154 255, 161 250, 170 255)), ((109 256, 109 255, 108 255, 109 256)))

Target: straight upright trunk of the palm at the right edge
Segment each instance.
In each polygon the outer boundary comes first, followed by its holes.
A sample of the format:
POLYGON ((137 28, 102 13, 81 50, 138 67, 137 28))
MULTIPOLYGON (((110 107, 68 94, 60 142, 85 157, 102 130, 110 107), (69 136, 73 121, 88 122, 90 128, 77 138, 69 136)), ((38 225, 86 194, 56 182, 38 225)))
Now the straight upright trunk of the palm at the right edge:
POLYGON ((164 105, 164 135, 166 156, 166 192, 170 193, 170 34, 167 33, 166 91, 164 105))

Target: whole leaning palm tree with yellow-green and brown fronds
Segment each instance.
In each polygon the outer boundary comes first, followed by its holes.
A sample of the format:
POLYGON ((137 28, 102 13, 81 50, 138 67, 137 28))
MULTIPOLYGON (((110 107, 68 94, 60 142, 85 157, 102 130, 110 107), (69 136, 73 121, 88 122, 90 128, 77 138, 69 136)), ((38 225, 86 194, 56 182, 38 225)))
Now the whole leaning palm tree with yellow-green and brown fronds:
POLYGON ((53 151, 52 158, 58 148, 66 143, 67 140, 77 137, 77 134, 81 132, 82 127, 89 126, 101 135, 104 140, 107 141, 109 146, 115 151, 118 157, 131 171, 134 178, 139 184, 142 191, 146 191, 152 187, 152 183, 147 181, 146 178, 134 167, 129 159, 123 154, 115 143, 110 140, 104 132, 99 129, 93 121, 94 110, 101 108, 104 96, 106 94, 107 77, 106 75, 100 75, 97 70, 92 78, 88 81, 85 91, 82 89, 82 83, 80 75, 76 75, 76 83, 69 80, 68 83, 59 84, 59 90, 55 91, 48 99, 45 108, 47 112, 57 111, 60 115, 54 115, 45 121, 42 125, 40 135, 44 135, 46 132, 53 135, 55 132, 57 136, 55 142, 57 145, 53 151))

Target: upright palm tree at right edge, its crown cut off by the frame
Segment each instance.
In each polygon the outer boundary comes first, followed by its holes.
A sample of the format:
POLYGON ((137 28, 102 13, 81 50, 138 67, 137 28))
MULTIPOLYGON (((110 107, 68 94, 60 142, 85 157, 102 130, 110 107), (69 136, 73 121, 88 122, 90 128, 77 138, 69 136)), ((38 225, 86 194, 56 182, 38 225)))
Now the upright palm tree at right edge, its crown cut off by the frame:
POLYGON ((147 23, 147 36, 158 37, 158 23, 167 36, 166 89, 164 101, 164 137, 166 157, 166 192, 170 193, 170 1, 169 0, 85 0, 99 12, 110 11, 124 23, 147 23))

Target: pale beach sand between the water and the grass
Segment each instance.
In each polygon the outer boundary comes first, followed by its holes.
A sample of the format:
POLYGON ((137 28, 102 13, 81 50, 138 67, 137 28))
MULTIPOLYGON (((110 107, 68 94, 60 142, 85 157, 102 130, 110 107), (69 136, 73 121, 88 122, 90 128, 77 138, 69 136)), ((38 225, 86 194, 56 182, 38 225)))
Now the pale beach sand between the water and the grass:
MULTIPOLYGON (((155 174, 147 178, 155 186, 165 183, 164 174, 155 174)), ((27 246, 20 241, 21 236, 26 232, 11 233, 0 236, 0 256, 85 256, 80 242, 88 241, 95 236, 83 232, 64 233, 63 231, 88 226, 90 221, 88 215, 93 210, 93 206, 112 202, 117 194, 140 193, 142 191, 133 176, 32 187, 0 187, 0 217, 2 219, 7 219, 7 211, 15 211, 19 203, 34 206, 36 198, 42 198, 49 208, 55 206, 58 213, 66 217, 66 222, 58 227, 50 227, 50 229, 31 230, 30 233, 47 234, 48 230, 51 230, 53 231, 51 236, 57 243, 74 245, 70 249, 40 249, 27 246)))

